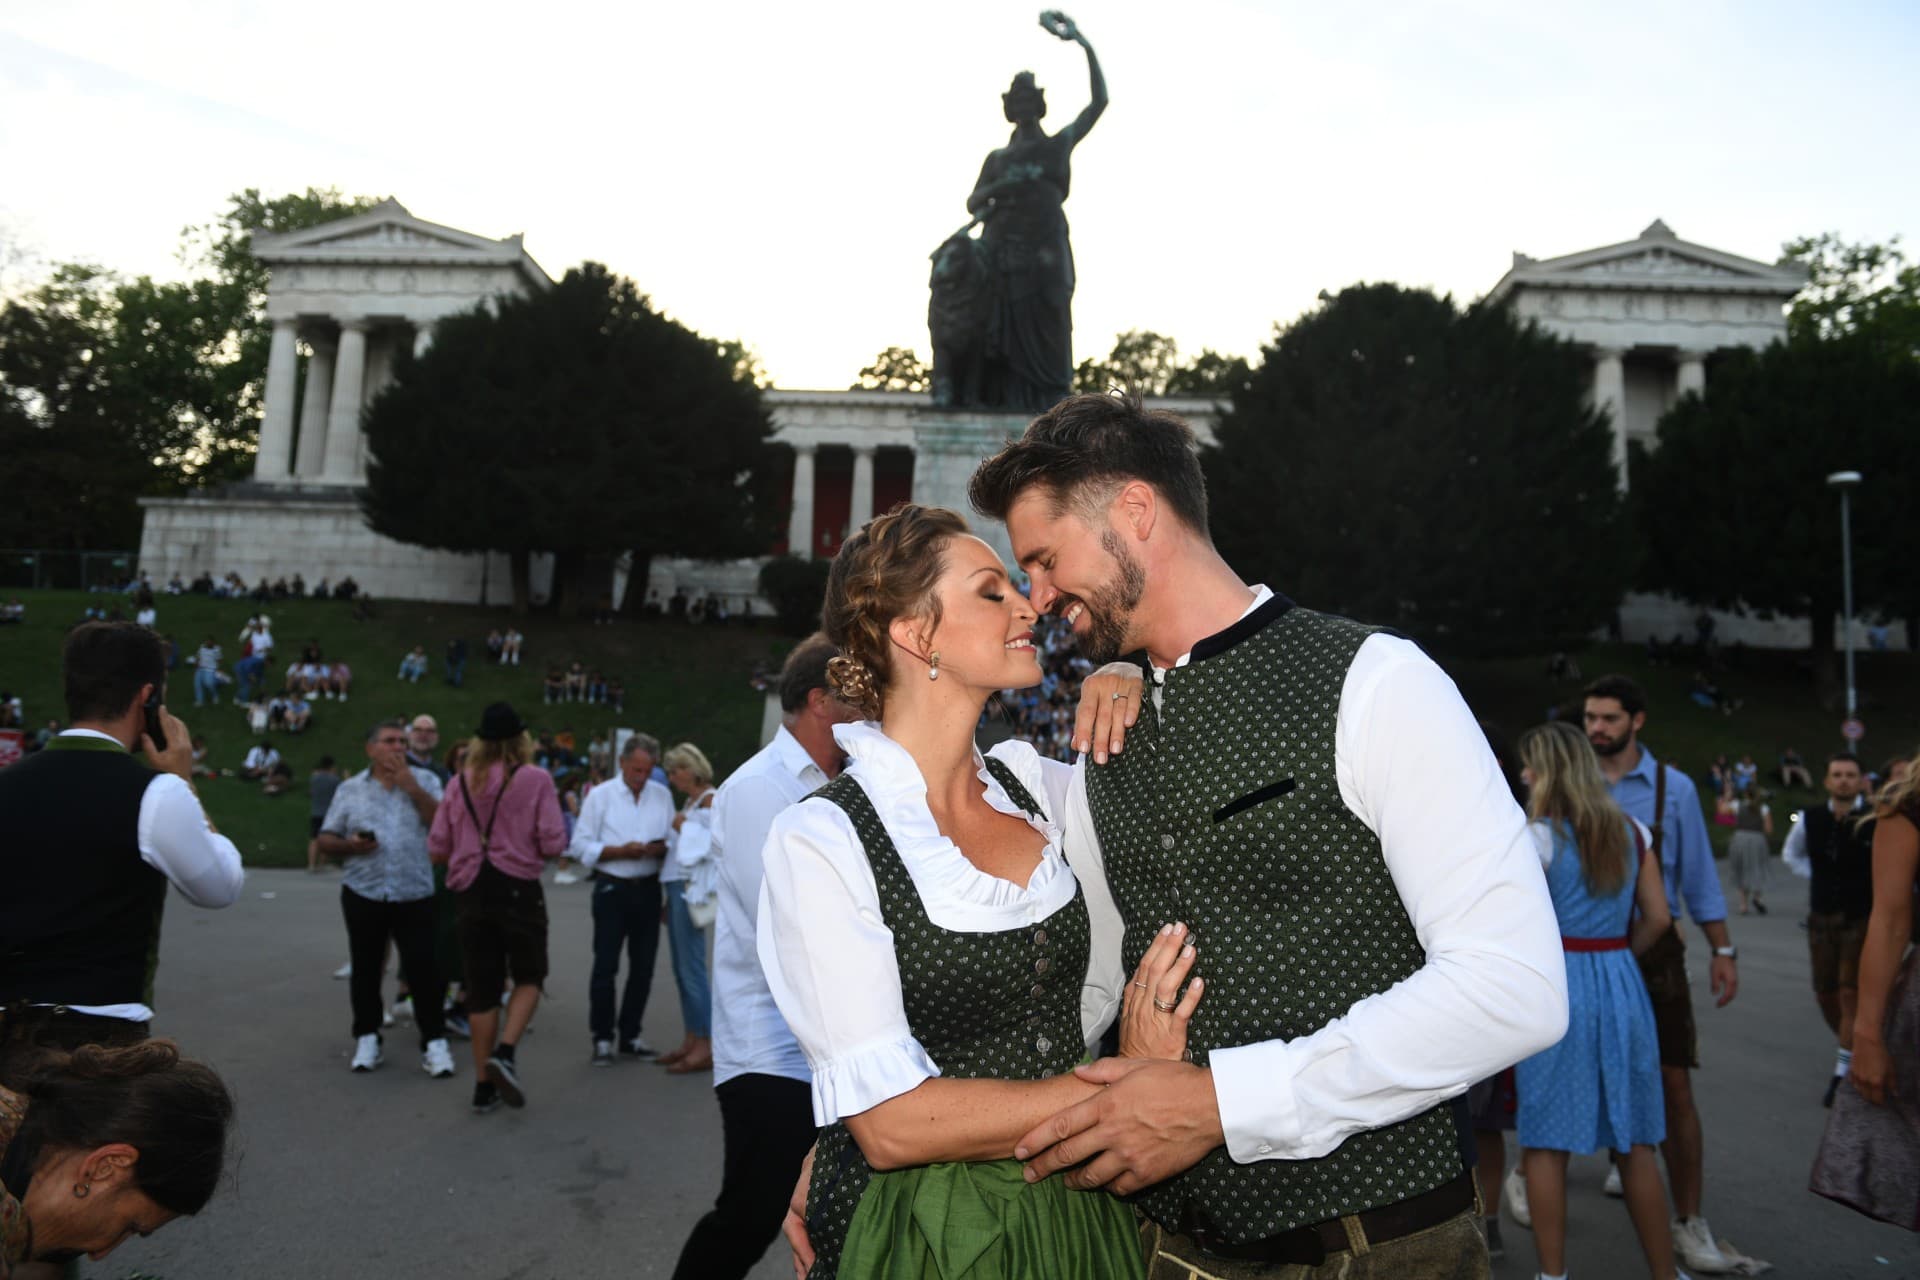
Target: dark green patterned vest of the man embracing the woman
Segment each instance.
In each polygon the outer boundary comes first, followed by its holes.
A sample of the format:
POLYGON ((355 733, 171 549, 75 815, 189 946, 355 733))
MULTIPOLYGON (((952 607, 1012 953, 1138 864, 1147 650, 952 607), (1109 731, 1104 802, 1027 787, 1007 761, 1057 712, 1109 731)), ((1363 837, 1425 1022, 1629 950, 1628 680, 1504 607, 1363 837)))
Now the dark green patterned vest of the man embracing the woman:
MULTIPOLYGON (((1167 921, 1198 935, 1192 1059, 1294 1040, 1394 986, 1425 952, 1380 841, 1334 779, 1340 689, 1373 628, 1275 597, 1167 672, 1127 748, 1087 766, 1133 973, 1167 921)), ((1167 1230, 1244 1244, 1398 1203, 1461 1174, 1450 1107, 1354 1134, 1319 1159, 1236 1163, 1215 1148, 1139 1194, 1167 1230)))

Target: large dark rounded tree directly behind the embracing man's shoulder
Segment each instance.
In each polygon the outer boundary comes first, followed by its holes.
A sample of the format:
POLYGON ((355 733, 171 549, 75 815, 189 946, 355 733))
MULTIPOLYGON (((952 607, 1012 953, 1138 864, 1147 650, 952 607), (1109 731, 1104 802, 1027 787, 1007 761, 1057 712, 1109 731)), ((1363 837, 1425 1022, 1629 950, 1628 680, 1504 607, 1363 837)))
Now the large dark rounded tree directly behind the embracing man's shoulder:
POLYGON ((1503 307, 1348 288, 1235 390, 1202 459, 1215 543, 1304 604, 1452 652, 1578 643, 1630 566, 1588 376, 1503 307))

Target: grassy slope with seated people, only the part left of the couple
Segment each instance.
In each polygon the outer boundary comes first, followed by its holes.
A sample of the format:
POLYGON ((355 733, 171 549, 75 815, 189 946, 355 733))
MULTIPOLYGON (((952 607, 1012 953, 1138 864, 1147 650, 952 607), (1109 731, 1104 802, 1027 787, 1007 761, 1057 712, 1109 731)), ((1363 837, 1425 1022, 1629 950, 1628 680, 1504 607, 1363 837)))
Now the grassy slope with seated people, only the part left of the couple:
MULTIPOLYGON (((13 595, 8 593, 8 599, 13 595)), ((0 628, 0 691, 23 699, 31 729, 50 718, 65 720, 60 641, 81 610, 117 604, 131 618, 132 608, 123 597, 83 591, 21 591, 19 599, 27 604, 27 622, 0 628)), ((205 737, 215 768, 238 770, 257 739, 248 731, 244 710, 230 700, 194 708, 190 664, 192 651, 213 633, 227 651, 227 670, 232 670, 240 626, 259 606, 177 595, 159 597, 157 608, 159 631, 173 635, 180 647, 167 706, 192 733, 205 737)), ((764 699, 749 683, 755 670, 778 666, 791 647, 789 639, 768 629, 733 624, 695 628, 662 620, 591 626, 530 618, 520 626, 526 633, 520 666, 499 668, 486 662, 484 645, 490 629, 509 622, 499 608, 382 601, 367 622, 355 622, 344 601, 282 601, 265 608, 273 618, 273 679, 301 647, 319 641, 328 660, 353 668, 353 693, 348 702, 313 702, 313 725, 305 733, 269 735, 294 766, 294 791, 265 796, 257 783, 238 777, 200 783, 207 814, 252 865, 305 865, 307 771, 324 754, 348 771, 365 768, 361 743, 367 727, 392 716, 432 714, 445 750, 474 731, 480 708, 505 699, 536 731, 570 727, 582 752, 597 731, 620 725, 653 733, 666 745, 691 741, 726 775, 760 745, 764 699), (440 677, 440 654, 455 635, 465 635, 474 654, 461 689, 440 677), (417 685, 397 679, 399 658, 413 645, 424 645, 434 658, 432 672, 417 685), (624 714, 586 702, 541 704, 547 664, 574 658, 624 679, 624 714)))

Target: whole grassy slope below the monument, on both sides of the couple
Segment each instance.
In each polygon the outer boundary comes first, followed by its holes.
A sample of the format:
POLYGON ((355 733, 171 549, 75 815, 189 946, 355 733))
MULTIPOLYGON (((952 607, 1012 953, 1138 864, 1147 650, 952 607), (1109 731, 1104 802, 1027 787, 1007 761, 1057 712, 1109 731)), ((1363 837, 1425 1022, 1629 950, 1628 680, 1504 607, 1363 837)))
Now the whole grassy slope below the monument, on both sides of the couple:
MULTIPOLYGON (((27 624, 0 628, 0 691, 25 699, 27 723, 65 718, 60 697, 60 639, 88 604, 119 604, 121 597, 79 591, 21 593, 27 624)), ((252 601, 213 601, 196 595, 161 597, 159 629, 180 645, 182 668, 171 681, 171 710, 207 739, 217 768, 238 768, 253 735, 240 708, 230 702, 194 708, 192 651, 213 633, 228 658, 238 652, 240 624, 255 612, 252 601)), ((505 610, 463 604, 380 603, 367 622, 355 622, 338 601, 284 601, 267 606, 273 616, 276 668, 319 641, 328 658, 353 668, 349 702, 315 702, 313 727, 300 737, 275 735, 280 754, 294 766, 298 785, 271 798, 240 779, 202 783, 202 796, 215 823, 255 865, 301 865, 305 860, 305 775, 323 754, 348 770, 361 768, 361 739, 374 720, 430 712, 440 720, 442 748, 470 733, 480 708, 497 699, 513 702, 534 729, 570 727, 586 750, 593 733, 624 725, 653 733, 662 743, 691 741, 712 758, 724 777, 758 747, 762 697, 749 685, 756 668, 778 664, 791 647, 772 631, 724 626, 691 628, 674 622, 618 622, 591 626, 532 618, 522 624, 522 666, 497 668, 484 660, 484 639, 505 626, 505 610), (467 685, 453 689, 440 679, 440 654, 455 635, 465 635, 472 654, 467 685), (399 656, 424 645, 432 674, 419 685, 396 677, 399 656), (580 658, 589 668, 626 681, 626 712, 582 702, 543 706, 541 677, 549 662, 580 658)), ((1647 745, 1663 760, 1703 779, 1716 754, 1740 758, 1753 752, 1770 770, 1784 747, 1797 747, 1818 777, 1820 760, 1839 745, 1837 708, 1822 706, 1807 674, 1805 654, 1730 651, 1718 683, 1741 708, 1734 716, 1697 706, 1688 699, 1690 666, 1647 666, 1640 649, 1599 645, 1576 654, 1586 677, 1622 672, 1640 679, 1653 700, 1647 745)), ((1509 735, 1548 718, 1549 708, 1578 716, 1580 685, 1553 681, 1542 658, 1498 662, 1448 662, 1475 712, 1509 735)), ((1860 654, 1862 718, 1870 735, 1862 745, 1868 764, 1920 745, 1920 660, 1914 654, 1860 654)), ((1812 802, 1811 793, 1784 793, 1776 810, 1812 802)), ((1716 841, 1726 831, 1715 829, 1716 841)))

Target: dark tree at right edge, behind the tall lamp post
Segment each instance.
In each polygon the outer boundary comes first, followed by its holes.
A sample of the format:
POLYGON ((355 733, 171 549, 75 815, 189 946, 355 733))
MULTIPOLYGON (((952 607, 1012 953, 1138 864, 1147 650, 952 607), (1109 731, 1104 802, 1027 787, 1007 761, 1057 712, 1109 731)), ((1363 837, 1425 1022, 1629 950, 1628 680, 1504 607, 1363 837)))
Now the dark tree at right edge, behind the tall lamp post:
POLYGON ((1905 535, 1916 451, 1920 367, 1874 334, 1728 353, 1705 399, 1661 418, 1659 447, 1634 449, 1644 583, 1720 608, 1805 614, 1814 652, 1830 656, 1841 574, 1826 476, 1866 476, 1851 503, 1857 608, 1914 612, 1905 535))

